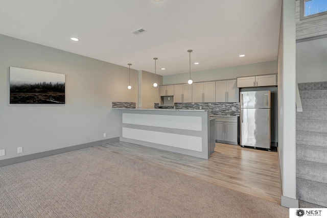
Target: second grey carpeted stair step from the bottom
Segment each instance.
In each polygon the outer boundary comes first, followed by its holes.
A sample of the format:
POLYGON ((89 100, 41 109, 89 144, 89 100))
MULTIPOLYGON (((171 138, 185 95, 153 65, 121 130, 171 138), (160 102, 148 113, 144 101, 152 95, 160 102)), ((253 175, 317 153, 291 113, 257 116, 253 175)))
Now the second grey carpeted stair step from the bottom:
POLYGON ((296 178, 326 183, 327 164, 297 159, 296 178))

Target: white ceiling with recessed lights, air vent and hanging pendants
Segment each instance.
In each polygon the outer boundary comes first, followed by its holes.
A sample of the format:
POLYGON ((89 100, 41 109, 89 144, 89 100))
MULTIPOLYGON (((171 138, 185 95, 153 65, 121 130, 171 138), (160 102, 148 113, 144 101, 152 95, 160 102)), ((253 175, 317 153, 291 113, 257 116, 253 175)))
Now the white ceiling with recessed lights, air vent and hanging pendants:
POLYGON ((0 0, 0 34, 149 72, 157 57, 165 76, 189 72, 189 49, 192 71, 276 60, 281 8, 282 0, 0 0), (140 28, 147 32, 131 33, 140 28))

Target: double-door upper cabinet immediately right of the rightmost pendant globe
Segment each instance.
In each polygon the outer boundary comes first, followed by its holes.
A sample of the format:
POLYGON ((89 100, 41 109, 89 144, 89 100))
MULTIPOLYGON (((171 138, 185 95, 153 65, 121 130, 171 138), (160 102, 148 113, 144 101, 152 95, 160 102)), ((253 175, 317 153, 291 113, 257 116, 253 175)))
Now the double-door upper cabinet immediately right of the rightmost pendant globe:
POLYGON ((215 82, 193 83, 193 102, 215 102, 215 82))

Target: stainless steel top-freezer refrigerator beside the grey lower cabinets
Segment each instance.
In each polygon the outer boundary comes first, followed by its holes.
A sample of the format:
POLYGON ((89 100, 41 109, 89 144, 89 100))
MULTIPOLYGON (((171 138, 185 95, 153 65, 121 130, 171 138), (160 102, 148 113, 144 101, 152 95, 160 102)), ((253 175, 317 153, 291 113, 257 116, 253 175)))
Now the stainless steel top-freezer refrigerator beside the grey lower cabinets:
POLYGON ((240 145, 271 149, 270 90, 240 92, 240 145))

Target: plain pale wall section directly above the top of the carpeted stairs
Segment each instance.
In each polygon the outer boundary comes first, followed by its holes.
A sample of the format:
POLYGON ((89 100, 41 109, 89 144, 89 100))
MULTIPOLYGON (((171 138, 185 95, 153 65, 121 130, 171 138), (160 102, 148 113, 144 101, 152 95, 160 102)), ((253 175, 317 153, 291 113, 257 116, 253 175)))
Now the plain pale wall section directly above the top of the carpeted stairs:
POLYGON ((296 43, 296 82, 327 81, 327 38, 296 43))

